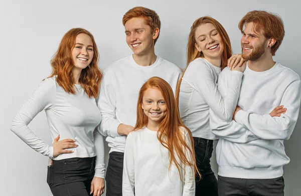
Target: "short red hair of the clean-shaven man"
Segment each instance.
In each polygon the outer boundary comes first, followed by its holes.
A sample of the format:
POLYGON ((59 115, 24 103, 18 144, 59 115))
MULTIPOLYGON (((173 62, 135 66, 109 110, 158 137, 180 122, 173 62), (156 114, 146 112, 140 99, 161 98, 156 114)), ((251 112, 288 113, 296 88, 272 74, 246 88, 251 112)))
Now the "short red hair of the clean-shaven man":
MULTIPOLYGON (((150 29, 152 29, 153 32, 156 28, 158 28, 159 30, 161 29, 160 18, 154 10, 150 10, 150 9, 144 8, 144 7, 135 7, 135 8, 130 9, 129 11, 127 11, 125 13, 125 15, 122 18, 123 26, 125 25, 125 23, 128 20, 130 20, 132 18, 143 18, 144 23, 146 25, 148 25, 150 27, 150 29)), ((154 44, 156 44, 156 42, 159 38, 159 35, 160 35, 160 31, 159 31, 158 37, 155 39, 154 44)))

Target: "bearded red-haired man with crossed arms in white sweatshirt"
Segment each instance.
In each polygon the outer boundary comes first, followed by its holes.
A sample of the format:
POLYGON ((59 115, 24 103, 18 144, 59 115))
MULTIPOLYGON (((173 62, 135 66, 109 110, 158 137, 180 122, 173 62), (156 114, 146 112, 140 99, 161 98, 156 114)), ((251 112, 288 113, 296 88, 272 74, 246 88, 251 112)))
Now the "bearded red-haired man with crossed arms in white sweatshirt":
MULTIPOLYGON (((210 126, 220 137, 216 147, 218 192, 220 196, 284 195, 282 167, 289 158, 283 140, 289 139, 298 119, 300 78, 273 61, 284 37, 279 16, 252 11, 241 19, 239 29, 242 57, 248 62, 238 106, 230 122, 210 112, 210 126), (270 115, 279 105, 282 112, 270 115)), ((230 76, 229 69, 219 75, 222 97, 227 93, 230 76)))

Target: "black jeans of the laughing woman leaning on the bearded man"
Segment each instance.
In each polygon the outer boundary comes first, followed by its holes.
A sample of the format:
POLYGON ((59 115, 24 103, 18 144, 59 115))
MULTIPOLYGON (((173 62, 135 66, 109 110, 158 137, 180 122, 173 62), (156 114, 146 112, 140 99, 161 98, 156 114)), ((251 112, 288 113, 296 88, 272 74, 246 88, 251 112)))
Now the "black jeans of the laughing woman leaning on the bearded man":
POLYGON ((213 140, 194 137, 196 161, 202 179, 196 178, 196 196, 218 196, 218 184, 211 169, 213 140))

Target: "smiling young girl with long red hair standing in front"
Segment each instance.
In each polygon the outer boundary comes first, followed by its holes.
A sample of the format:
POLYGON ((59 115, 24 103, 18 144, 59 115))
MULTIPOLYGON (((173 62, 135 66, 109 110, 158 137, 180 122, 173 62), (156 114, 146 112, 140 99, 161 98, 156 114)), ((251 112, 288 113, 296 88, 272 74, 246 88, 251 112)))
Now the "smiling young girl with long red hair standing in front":
POLYGON ((141 87, 134 131, 126 138, 122 195, 195 195, 193 137, 171 86, 152 77, 141 87))

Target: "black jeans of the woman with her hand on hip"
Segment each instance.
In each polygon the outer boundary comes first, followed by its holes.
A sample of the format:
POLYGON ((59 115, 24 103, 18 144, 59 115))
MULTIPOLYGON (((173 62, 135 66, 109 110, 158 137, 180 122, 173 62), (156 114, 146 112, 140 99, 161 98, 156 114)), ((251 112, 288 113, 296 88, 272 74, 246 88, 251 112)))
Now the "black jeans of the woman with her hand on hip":
POLYGON ((88 196, 94 173, 95 157, 53 160, 47 183, 54 196, 88 196))

